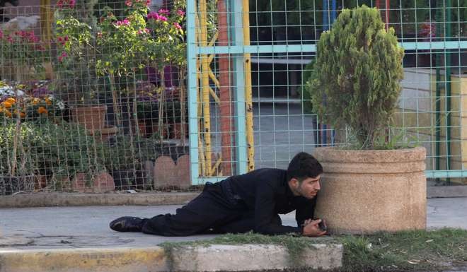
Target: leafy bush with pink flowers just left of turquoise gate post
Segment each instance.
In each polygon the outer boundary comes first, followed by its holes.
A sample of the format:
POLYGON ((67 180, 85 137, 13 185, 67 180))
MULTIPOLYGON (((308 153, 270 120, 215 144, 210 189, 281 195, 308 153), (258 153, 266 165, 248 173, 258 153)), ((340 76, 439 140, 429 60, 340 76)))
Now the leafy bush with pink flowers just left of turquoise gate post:
POLYGON ((118 20, 106 8, 105 16, 99 19, 97 40, 103 54, 98 60, 98 72, 111 78, 117 76, 114 83, 120 90, 133 89, 132 81, 146 66, 162 67, 185 59, 183 3, 176 1, 178 8, 172 12, 163 8, 149 12, 149 2, 127 0, 125 18, 118 20))

